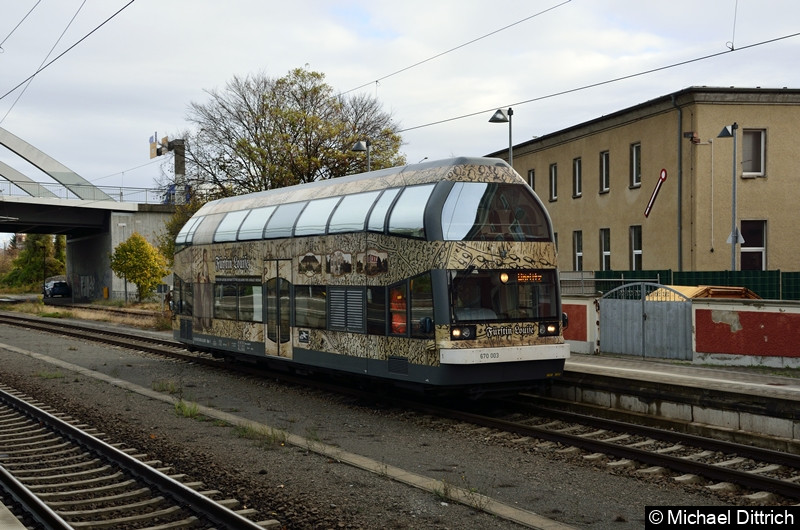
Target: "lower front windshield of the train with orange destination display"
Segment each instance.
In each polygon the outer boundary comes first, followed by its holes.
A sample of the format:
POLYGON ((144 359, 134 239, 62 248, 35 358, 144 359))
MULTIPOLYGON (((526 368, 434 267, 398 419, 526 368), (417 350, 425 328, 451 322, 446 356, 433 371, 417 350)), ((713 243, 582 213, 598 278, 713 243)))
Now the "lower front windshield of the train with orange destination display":
POLYGON ((453 322, 560 318, 555 270, 450 271, 453 322))

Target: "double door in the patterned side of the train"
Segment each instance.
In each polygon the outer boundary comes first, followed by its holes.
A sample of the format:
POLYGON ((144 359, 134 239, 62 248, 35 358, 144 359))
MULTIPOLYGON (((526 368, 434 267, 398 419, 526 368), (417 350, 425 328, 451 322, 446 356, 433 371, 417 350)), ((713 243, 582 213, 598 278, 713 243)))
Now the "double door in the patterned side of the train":
POLYGON ((292 261, 288 259, 268 259, 264 262, 266 354, 290 359, 292 358, 291 265, 292 261))

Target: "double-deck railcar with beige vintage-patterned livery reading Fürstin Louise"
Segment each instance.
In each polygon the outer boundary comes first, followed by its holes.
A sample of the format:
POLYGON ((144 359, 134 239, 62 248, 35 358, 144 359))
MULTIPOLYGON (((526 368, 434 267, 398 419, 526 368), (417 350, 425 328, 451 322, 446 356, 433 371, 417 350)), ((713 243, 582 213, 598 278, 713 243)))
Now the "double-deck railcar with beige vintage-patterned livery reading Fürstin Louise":
POLYGON ((173 272, 175 339, 232 360, 481 394, 569 357, 550 216, 499 159, 208 202, 173 272))

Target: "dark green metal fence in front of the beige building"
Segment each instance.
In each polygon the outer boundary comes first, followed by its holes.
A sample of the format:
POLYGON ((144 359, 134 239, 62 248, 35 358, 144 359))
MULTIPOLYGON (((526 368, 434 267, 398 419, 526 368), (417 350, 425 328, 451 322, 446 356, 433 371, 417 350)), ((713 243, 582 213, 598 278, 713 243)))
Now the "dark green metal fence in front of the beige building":
POLYGON ((800 300, 800 272, 782 271, 562 271, 561 294, 601 296, 633 282, 746 287, 767 300, 800 300))

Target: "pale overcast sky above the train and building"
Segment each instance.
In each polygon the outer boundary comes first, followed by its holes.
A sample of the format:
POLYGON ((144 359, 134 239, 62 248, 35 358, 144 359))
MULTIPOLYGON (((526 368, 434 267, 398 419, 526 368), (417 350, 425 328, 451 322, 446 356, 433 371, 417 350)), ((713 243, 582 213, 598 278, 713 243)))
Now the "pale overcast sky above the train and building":
MULTIPOLYGON (((800 87, 800 36, 784 38, 797 0, 127 4, 0 3, 0 127, 99 186, 154 186, 149 137, 187 128, 205 91, 305 65, 376 96, 410 163, 504 149, 508 127, 488 123, 500 107, 521 143, 689 86, 800 87)), ((3 147, 0 160, 48 180, 3 147)))

